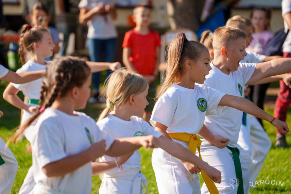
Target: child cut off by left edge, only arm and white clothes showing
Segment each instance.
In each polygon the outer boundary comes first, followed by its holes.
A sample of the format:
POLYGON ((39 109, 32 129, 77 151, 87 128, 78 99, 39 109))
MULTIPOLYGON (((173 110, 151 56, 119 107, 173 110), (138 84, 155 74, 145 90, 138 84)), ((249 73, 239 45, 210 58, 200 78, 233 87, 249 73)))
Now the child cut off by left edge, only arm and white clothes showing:
MULTIPOLYGON (((39 79, 44 71, 15 73, 0 65, 0 79, 6 82, 25 83, 39 79)), ((0 110, 0 117, 3 112, 0 110)), ((0 138, 0 193, 10 193, 17 172, 17 160, 0 138)))

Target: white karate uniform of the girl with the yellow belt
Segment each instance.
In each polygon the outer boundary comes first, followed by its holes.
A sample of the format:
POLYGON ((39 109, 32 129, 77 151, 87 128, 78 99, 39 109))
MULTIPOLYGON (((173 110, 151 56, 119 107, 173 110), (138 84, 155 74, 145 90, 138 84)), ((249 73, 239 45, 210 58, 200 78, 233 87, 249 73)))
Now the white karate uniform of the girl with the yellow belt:
MULTIPOLYGON (((218 104, 224 95, 196 84, 194 89, 172 84, 156 102, 150 122, 167 126, 168 133, 197 134, 205 115, 220 114, 223 107, 218 104)), ((173 140, 189 149, 187 142, 173 140)), ((183 163, 161 148, 153 150, 152 165, 160 194, 200 193, 199 176, 194 174, 191 180, 183 163)))

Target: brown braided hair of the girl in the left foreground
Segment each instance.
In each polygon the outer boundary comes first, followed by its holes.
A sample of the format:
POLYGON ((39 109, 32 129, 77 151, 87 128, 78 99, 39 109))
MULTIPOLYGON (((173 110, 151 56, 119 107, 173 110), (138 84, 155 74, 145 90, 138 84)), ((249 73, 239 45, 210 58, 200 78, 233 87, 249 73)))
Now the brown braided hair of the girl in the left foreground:
POLYGON ((78 57, 56 58, 48 64, 41 84, 39 109, 6 144, 16 142, 17 137, 41 114, 41 109, 50 107, 55 99, 64 97, 73 87, 81 87, 90 73, 89 66, 78 57))

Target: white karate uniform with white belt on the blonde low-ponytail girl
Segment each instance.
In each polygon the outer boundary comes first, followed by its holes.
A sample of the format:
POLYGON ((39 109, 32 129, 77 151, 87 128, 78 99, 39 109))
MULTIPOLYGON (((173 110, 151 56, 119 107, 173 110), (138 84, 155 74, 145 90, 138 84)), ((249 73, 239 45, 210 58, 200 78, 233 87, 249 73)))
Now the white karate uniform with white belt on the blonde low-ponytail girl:
MULTIPOLYGON (((130 121, 122 120, 113 115, 107 115, 104 119, 97 122, 100 130, 112 138, 134 137, 141 135, 153 135, 156 138, 161 134, 154 130, 142 118, 132 116, 130 121)), ((114 157, 104 155, 100 162, 115 160, 114 157)), ((146 187, 146 177, 140 172, 141 156, 138 150, 120 168, 113 168, 104 173, 99 189, 100 194, 140 194, 143 190, 143 183, 146 187)))

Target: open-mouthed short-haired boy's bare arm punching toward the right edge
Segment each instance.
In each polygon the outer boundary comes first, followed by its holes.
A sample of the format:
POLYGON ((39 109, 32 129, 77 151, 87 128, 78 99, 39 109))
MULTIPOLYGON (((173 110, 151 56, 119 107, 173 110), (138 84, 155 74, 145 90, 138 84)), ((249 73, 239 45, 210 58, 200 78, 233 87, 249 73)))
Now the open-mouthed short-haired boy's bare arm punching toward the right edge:
POLYGON ((269 62, 258 63, 246 85, 256 83, 266 77, 289 72, 291 72, 291 58, 273 59, 269 62))

